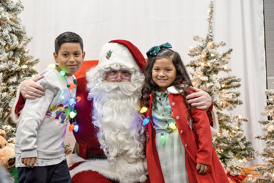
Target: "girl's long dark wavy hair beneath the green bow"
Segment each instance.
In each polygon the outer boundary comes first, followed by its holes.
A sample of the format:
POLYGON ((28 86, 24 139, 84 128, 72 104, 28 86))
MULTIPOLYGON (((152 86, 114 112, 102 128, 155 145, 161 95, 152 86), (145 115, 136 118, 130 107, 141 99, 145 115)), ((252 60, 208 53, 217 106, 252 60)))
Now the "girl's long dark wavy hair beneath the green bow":
POLYGON ((155 91, 158 89, 158 85, 152 79, 152 69, 156 60, 161 58, 167 58, 171 60, 177 73, 177 77, 170 86, 174 86, 175 89, 180 92, 183 96, 184 103, 189 110, 191 105, 187 103, 187 99, 185 98, 190 91, 187 89, 187 86, 193 86, 188 74, 188 71, 181 59, 181 56, 176 51, 173 51, 168 48, 160 49, 156 56, 150 56, 146 62, 146 72, 145 72, 145 83, 142 87, 140 102, 143 103, 145 107, 149 107, 148 101, 150 100, 150 93, 153 96, 152 100, 152 109, 156 109, 156 93, 155 91))

